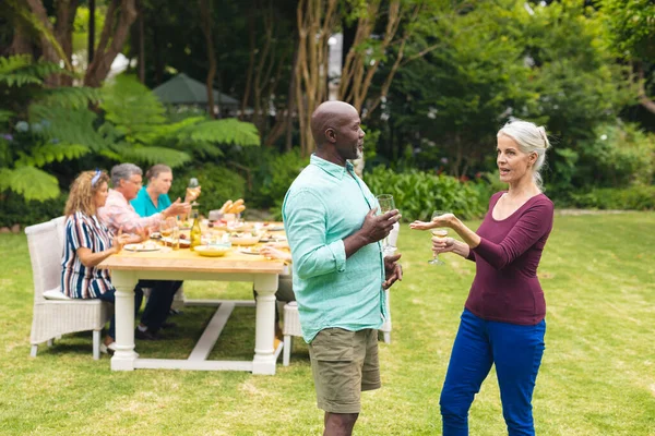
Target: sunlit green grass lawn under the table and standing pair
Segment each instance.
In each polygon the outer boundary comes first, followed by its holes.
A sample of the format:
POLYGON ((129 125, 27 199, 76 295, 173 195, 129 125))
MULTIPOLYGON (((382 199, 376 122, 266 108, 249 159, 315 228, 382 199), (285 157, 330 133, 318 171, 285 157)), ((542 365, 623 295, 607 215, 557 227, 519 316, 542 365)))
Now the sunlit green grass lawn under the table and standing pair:
MULTIPOLYGON (((474 227, 477 222, 472 223, 474 227)), ((430 266, 429 237, 404 226, 405 279, 393 289, 391 344, 380 344, 383 388, 362 396, 358 435, 438 435, 439 392, 473 264, 430 266)), ((558 216, 539 277, 548 303, 534 414, 539 435, 655 435, 655 214, 558 216)), ((0 235, 0 434, 318 435, 322 411, 307 347, 274 377, 248 373, 112 373, 91 356, 91 332, 29 358, 32 272, 24 235, 0 235)), ((190 298, 249 299, 250 287, 188 282, 190 298)), ((183 356, 211 317, 177 316, 169 341, 144 356, 183 356)), ((212 356, 249 359, 253 310, 235 311, 212 356)), ((281 359, 282 361, 282 359, 281 359)), ((490 374, 471 411, 472 435, 502 435, 490 374)), ((505 433, 507 434, 507 433, 505 433)))

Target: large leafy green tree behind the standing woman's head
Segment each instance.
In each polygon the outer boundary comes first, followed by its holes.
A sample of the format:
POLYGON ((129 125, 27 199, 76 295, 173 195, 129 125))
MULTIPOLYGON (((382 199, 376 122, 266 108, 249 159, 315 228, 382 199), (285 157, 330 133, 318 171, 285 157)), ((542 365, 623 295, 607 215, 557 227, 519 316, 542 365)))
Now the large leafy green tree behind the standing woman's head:
POLYGON ((468 175, 493 167, 498 129, 511 117, 553 136, 550 187, 565 192, 581 147, 629 101, 596 12, 561 1, 478 3, 442 23, 439 50, 398 72, 380 113, 380 152, 414 149, 422 168, 468 175), (555 184, 553 184, 555 183, 555 184))

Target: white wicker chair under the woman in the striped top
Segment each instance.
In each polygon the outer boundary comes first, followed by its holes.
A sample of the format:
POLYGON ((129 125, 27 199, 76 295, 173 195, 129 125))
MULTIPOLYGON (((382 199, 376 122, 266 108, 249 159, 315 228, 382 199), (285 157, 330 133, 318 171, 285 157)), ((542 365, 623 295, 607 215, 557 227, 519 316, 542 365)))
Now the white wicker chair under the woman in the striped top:
POLYGON ((100 300, 67 299, 61 294, 61 256, 64 244, 64 217, 25 229, 32 275, 34 278, 34 313, 31 355, 36 358, 38 344, 52 344, 55 338, 75 331, 93 330, 93 359, 100 358, 100 330, 111 317, 109 303, 100 300), (59 290, 60 299, 48 300, 47 291, 59 290))

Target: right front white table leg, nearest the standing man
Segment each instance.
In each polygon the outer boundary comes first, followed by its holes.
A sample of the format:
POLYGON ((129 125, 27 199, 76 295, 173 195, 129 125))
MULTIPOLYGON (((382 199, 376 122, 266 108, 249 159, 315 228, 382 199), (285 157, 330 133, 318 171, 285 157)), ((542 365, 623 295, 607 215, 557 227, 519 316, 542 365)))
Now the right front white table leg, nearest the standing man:
POLYGON ((257 292, 257 324, 254 332, 254 359, 252 374, 275 374, 275 292, 277 275, 257 275, 254 279, 257 292))

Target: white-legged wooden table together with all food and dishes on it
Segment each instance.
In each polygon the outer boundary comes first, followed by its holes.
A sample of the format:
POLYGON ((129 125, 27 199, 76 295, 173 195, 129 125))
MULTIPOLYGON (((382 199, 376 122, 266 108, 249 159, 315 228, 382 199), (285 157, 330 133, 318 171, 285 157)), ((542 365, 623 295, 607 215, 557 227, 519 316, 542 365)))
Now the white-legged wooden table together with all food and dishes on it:
MULTIPOLYGON (((275 374, 283 344, 274 346, 275 292, 278 276, 288 274, 285 262, 264 256, 267 243, 285 243, 281 222, 245 221, 242 199, 228 201, 210 213, 199 214, 194 203, 189 217, 163 220, 150 239, 127 244, 105 259, 99 268, 111 270, 116 287, 116 352, 111 370, 231 370, 275 374), (218 280, 252 282, 251 300, 186 300, 184 305, 214 305, 216 313, 186 360, 145 359, 134 351, 133 289, 139 280, 218 280), (209 361, 214 344, 233 310, 251 306, 257 311, 255 349, 252 361, 209 361)), ((219 295, 217 295, 219 296, 219 295)))

